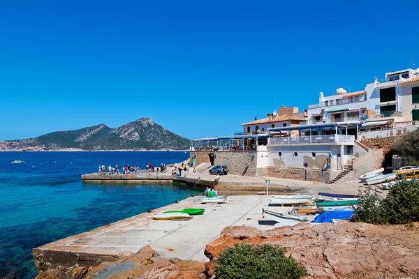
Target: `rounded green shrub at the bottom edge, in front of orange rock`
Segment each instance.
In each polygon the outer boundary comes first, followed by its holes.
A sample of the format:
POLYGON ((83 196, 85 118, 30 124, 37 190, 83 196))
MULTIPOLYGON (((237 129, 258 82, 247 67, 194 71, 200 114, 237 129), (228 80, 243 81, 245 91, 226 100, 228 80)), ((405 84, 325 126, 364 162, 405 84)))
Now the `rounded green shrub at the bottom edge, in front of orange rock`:
POLYGON ((226 248, 214 273, 219 279, 297 279, 307 275, 302 264, 284 255, 285 249, 269 244, 247 243, 226 248))

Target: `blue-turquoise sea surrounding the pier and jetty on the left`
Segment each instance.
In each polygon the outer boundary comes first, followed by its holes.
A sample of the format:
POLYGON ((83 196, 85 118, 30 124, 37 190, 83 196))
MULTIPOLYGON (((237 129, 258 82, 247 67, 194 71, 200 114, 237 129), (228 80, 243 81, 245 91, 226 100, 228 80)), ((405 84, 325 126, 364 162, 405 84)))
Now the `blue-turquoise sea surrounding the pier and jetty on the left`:
POLYGON ((82 174, 187 158, 184 151, 0 152, 0 278, 34 278, 33 248, 200 193, 177 184, 83 183, 82 174))

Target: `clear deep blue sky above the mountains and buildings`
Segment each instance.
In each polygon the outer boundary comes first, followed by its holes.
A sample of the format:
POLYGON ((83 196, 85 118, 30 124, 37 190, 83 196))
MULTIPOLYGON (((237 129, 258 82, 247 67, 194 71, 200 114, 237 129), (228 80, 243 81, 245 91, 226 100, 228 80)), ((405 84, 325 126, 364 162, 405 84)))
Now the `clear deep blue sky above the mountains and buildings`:
POLYGON ((144 116, 188 138, 230 135, 419 68, 418 15, 409 0, 3 1, 0 140, 144 116))

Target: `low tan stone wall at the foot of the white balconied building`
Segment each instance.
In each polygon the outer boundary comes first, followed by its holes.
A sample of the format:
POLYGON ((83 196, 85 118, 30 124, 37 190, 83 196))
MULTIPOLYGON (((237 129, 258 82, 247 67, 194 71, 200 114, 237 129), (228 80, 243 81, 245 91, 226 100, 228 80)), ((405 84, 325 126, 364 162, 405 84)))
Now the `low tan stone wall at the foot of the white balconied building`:
MULTIPOLYGON (((307 181, 328 182, 339 172, 325 171, 319 169, 307 169, 307 181)), ((291 167, 267 167, 267 176, 280 179, 305 180, 305 169, 291 167)))

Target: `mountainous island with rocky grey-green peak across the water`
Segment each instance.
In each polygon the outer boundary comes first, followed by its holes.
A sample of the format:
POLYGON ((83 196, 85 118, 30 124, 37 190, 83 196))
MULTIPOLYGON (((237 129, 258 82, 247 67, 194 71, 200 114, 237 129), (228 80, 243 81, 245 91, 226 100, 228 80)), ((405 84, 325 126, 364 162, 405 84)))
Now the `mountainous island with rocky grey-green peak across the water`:
POLYGON ((184 150, 189 149, 190 142, 144 117, 119 128, 100 124, 26 140, 0 141, 0 151, 184 150))

